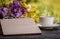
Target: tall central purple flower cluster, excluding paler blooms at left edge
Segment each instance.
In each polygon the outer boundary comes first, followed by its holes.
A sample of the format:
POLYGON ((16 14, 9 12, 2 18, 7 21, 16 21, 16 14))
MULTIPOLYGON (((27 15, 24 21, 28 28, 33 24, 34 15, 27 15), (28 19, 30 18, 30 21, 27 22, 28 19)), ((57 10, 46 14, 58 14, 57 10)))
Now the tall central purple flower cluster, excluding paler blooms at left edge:
POLYGON ((20 7, 22 6, 21 2, 16 0, 13 3, 10 3, 11 17, 20 17, 22 15, 20 7))

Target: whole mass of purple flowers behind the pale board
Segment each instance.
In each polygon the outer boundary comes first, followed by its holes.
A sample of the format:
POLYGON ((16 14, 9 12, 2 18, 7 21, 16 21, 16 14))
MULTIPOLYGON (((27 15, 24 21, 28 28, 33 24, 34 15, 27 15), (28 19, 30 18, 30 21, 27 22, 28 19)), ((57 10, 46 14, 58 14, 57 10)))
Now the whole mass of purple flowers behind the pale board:
POLYGON ((27 8, 23 7, 22 2, 17 0, 13 0, 13 2, 9 4, 9 7, 6 7, 5 4, 0 7, 0 15, 3 18, 19 18, 26 13, 27 8))

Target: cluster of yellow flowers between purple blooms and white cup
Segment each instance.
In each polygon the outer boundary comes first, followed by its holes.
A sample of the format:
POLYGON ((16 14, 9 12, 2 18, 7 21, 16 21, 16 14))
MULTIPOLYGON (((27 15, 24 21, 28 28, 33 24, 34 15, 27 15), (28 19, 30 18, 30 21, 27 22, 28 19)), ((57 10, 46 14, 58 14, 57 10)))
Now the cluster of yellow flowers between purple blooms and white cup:
POLYGON ((37 16, 37 14, 36 14, 36 11, 37 11, 37 6, 35 5, 35 4, 29 4, 28 5, 28 17, 30 17, 30 18, 32 18, 32 19, 34 19, 34 21, 36 22, 36 23, 38 23, 39 22, 39 18, 38 18, 38 16, 37 16))

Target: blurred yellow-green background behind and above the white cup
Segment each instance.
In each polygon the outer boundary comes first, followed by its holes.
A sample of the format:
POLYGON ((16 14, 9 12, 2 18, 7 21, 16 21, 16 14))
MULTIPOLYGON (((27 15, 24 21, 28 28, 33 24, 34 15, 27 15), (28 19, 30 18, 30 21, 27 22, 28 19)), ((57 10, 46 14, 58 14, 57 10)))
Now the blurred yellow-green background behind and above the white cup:
POLYGON ((60 20, 60 0, 27 0, 28 4, 35 4, 40 16, 54 17, 54 23, 60 20))

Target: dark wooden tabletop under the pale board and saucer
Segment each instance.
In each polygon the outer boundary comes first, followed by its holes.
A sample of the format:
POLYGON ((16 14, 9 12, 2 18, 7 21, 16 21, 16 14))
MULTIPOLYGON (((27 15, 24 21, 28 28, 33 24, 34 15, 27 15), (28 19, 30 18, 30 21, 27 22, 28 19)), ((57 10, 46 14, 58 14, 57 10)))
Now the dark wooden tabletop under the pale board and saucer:
POLYGON ((60 29, 55 30, 42 29, 42 34, 38 35, 3 36, 0 28, 0 39, 60 39, 60 29))

